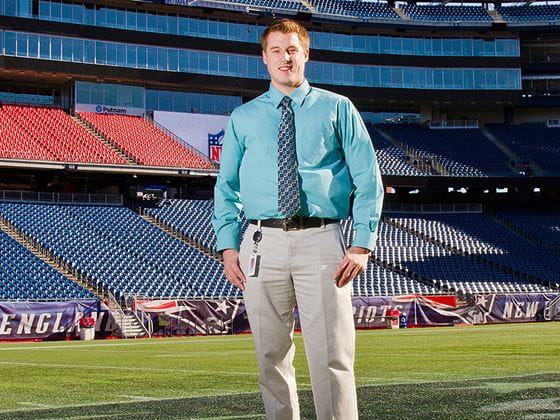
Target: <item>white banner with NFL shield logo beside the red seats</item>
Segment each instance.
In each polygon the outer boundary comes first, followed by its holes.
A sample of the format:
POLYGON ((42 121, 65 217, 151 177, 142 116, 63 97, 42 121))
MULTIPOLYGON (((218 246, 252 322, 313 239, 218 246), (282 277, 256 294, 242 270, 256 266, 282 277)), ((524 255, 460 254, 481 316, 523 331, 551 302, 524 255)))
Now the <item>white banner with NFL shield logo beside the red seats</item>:
POLYGON ((154 111, 154 121, 207 155, 210 160, 220 161, 229 116, 154 111))

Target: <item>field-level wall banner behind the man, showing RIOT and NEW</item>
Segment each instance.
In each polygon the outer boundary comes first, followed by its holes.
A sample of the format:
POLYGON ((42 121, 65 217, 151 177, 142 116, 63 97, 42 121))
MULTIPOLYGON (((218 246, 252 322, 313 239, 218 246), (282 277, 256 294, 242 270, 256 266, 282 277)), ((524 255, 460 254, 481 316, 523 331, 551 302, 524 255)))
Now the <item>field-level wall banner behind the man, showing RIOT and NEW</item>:
MULTIPOLYGON (((385 328, 389 311, 406 316, 408 327, 550 321, 560 319, 560 295, 484 295, 471 301, 456 296, 372 296, 352 299, 356 328, 385 328)), ((235 334, 250 332, 242 300, 136 301, 155 334, 235 334)), ((300 328, 297 308, 296 328, 300 328)), ((144 317, 145 318, 145 317, 144 317)))

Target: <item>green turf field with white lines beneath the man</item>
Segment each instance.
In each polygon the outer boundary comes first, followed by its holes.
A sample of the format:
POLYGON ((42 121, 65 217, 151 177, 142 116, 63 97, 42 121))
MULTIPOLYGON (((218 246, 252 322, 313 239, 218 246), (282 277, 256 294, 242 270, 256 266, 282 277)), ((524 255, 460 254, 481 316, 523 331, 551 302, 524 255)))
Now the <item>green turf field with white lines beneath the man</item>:
MULTIPOLYGON (((0 418, 263 418, 256 370, 246 335, 0 344, 0 418)), ((558 419, 560 323, 361 331, 356 377, 361 418, 558 419)))

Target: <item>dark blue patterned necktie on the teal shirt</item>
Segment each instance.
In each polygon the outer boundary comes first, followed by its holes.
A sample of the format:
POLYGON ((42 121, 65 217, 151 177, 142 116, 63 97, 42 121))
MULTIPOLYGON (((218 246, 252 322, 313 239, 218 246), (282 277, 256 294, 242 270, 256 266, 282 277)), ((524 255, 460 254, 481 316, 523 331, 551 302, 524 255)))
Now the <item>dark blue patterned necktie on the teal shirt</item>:
POLYGON ((296 155, 296 125, 292 100, 284 96, 282 119, 278 129, 278 210, 286 218, 299 210, 298 164, 296 155))

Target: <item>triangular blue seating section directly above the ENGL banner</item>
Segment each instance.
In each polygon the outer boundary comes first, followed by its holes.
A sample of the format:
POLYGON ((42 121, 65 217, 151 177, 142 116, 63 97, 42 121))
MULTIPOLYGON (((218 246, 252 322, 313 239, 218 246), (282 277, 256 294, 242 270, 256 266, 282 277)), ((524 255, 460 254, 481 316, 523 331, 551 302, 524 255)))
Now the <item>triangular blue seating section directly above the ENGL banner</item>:
POLYGON ((0 255, 0 300, 94 298, 2 231, 0 255))

